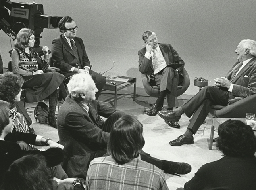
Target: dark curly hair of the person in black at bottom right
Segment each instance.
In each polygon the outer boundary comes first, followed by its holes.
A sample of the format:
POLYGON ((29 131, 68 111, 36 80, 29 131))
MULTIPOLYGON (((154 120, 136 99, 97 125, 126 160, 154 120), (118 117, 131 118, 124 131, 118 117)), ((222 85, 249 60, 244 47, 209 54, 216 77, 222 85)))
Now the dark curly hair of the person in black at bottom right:
POLYGON ((218 128, 217 147, 225 156, 250 158, 256 152, 252 128, 239 120, 227 120, 218 128))

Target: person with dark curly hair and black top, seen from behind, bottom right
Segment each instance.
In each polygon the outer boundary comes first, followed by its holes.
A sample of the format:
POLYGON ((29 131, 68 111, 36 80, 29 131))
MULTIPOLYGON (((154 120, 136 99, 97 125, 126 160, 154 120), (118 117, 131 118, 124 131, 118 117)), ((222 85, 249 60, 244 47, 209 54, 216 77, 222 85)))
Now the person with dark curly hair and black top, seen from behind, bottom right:
POLYGON ((177 190, 256 189, 256 137, 252 128, 239 120, 227 120, 218 128, 217 147, 224 157, 206 163, 184 188, 177 190))

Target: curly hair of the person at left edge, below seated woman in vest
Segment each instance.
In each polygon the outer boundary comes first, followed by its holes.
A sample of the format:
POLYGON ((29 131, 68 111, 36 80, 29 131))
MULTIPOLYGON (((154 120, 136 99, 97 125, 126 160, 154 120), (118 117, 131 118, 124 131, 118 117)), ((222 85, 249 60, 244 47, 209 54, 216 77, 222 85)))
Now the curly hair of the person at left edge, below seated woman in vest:
POLYGON ((16 96, 19 94, 24 80, 12 72, 6 72, 0 76, 0 100, 11 104, 11 108, 16 105, 16 96))

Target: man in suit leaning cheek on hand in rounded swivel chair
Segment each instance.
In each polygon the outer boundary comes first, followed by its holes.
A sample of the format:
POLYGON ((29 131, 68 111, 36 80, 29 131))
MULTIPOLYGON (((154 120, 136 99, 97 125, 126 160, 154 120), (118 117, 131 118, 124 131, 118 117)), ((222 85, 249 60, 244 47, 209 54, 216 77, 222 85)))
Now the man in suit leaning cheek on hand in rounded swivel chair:
MULTIPOLYGON (((160 95, 156 103, 146 110, 146 114, 156 116, 157 112, 162 109, 167 94, 170 94, 168 110, 175 107, 177 87, 183 81, 183 75, 180 72, 184 67, 184 61, 171 44, 158 43, 155 32, 146 31, 142 38, 146 46, 138 52, 139 71, 146 73, 151 86, 160 86, 160 95)), ((171 127, 179 128, 177 123, 166 122, 171 127)))

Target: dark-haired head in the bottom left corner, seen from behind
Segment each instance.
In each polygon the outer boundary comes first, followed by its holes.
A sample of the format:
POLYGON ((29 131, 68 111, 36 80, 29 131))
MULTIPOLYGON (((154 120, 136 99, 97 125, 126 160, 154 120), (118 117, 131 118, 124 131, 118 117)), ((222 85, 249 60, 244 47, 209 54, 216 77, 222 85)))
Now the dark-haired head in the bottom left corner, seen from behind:
POLYGON ((50 169, 41 155, 27 155, 10 165, 4 177, 4 190, 52 190, 50 169))

